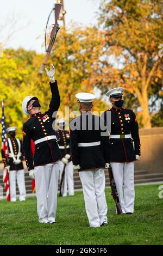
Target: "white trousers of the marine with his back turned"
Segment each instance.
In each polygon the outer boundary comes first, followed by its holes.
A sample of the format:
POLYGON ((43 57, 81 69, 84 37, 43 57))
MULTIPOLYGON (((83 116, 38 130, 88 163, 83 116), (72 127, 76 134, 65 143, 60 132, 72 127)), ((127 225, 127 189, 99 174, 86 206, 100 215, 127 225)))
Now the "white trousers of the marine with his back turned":
POLYGON ((104 169, 84 170, 79 172, 79 176, 90 227, 96 228, 102 223, 108 223, 104 169))

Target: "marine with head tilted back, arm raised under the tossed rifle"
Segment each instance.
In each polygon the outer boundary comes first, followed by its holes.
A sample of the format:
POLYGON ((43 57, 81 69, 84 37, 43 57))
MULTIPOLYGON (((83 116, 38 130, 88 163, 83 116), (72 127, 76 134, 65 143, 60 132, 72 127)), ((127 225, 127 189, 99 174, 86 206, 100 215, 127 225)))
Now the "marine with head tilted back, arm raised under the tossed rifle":
POLYGON ((31 115, 23 125, 23 146, 29 176, 35 178, 39 222, 55 223, 61 154, 53 122, 60 106, 60 95, 54 79, 54 66, 49 71, 46 69, 46 72, 50 78, 52 93, 49 109, 42 114, 37 97, 27 96, 23 100, 23 113, 31 115), (30 153, 31 139, 35 143, 34 164, 30 153))

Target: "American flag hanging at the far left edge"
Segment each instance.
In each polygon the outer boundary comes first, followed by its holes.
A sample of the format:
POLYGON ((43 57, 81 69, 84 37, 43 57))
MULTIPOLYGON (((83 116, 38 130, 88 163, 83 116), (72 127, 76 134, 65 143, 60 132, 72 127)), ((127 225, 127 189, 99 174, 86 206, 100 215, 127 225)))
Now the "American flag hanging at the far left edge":
MULTIPOLYGON (((2 100, 2 150, 4 151, 5 157, 8 157, 8 141, 5 130, 5 118, 4 118, 4 102, 2 100)), ((3 170, 3 182, 5 186, 5 192, 7 194, 7 200, 10 201, 10 189, 9 189, 9 173, 4 168, 3 170)))

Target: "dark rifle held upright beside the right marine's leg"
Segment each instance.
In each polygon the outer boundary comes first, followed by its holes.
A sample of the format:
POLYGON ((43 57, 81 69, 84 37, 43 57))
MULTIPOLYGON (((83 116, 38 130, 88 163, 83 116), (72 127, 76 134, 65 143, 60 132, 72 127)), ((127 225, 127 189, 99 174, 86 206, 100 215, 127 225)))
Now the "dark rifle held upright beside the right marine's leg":
POLYGON ((110 186, 111 186, 111 195, 112 195, 113 199, 115 200, 117 214, 122 214, 120 199, 118 197, 117 188, 116 188, 115 180, 114 180, 114 177, 112 174, 111 166, 108 168, 108 172, 109 172, 109 179, 110 179, 110 186))

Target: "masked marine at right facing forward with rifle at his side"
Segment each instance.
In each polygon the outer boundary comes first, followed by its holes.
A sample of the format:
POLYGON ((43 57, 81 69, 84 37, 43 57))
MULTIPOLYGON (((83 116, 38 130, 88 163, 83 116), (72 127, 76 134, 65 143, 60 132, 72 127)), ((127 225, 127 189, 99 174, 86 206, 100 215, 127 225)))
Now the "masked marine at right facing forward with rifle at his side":
POLYGON ((118 196, 123 214, 134 212, 134 161, 140 158, 139 126, 136 115, 131 109, 123 108, 123 88, 114 88, 106 93, 112 108, 102 115, 109 119, 110 131, 110 164, 114 175, 118 196), (124 196, 123 196, 124 184, 124 196))

